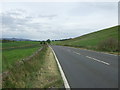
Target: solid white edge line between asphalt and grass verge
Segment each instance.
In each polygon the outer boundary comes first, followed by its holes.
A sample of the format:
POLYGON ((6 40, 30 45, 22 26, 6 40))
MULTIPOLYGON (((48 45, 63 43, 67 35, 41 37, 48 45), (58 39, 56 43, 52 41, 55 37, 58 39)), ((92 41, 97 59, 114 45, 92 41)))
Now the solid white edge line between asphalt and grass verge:
MULTIPOLYGON (((50 47, 50 46, 49 46, 50 47)), ((51 48, 51 47, 50 47, 51 48)), ((69 83, 68 83, 68 81, 67 81, 67 78, 65 77, 65 74, 64 74, 64 72, 63 72, 63 70, 62 70, 62 67, 61 67, 61 65, 60 65, 60 63, 59 63, 59 61, 58 61, 58 59, 57 59, 57 56, 56 56, 56 54, 55 54, 55 52, 54 52, 54 50, 51 48, 51 50, 52 50, 52 52, 53 52, 53 54, 54 54, 54 56, 55 56, 55 59, 56 59, 56 61, 57 61, 57 64, 58 64, 58 67, 59 67, 59 70, 60 70, 60 73, 61 73, 61 76, 62 76, 62 79, 63 79, 63 81, 64 81, 64 86, 65 86, 65 88, 68 90, 70 90, 70 86, 69 86, 69 83)))

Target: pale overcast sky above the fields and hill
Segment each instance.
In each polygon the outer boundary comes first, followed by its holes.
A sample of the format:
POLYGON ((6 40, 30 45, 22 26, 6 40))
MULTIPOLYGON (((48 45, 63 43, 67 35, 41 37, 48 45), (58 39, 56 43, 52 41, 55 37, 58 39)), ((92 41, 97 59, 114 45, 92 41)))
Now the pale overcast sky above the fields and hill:
POLYGON ((118 25, 117 2, 3 2, 1 6, 3 38, 74 38, 118 25))

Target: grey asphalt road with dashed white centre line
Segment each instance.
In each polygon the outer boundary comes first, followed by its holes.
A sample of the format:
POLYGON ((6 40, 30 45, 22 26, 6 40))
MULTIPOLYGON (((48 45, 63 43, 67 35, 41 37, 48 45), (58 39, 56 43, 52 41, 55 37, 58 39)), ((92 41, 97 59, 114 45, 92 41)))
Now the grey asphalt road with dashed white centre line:
POLYGON ((118 56, 51 46, 71 88, 118 88, 118 56))

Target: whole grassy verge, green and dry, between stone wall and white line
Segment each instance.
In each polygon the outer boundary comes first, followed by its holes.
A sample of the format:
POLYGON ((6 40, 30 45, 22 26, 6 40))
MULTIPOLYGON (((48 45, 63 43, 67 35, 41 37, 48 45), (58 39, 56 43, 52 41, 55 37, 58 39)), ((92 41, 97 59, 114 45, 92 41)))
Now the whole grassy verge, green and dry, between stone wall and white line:
POLYGON ((3 88, 63 87, 54 56, 47 46, 23 64, 13 66, 3 77, 3 88))

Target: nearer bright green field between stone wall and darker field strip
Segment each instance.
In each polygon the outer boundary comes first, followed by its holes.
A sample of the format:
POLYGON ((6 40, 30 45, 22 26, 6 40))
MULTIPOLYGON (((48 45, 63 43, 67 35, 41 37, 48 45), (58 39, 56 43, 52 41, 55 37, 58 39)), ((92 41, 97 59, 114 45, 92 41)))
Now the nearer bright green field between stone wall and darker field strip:
POLYGON ((40 46, 13 49, 13 50, 3 50, 2 51, 2 70, 5 71, 9 69, 15 62, 27 58, 32 55, 40 46))

